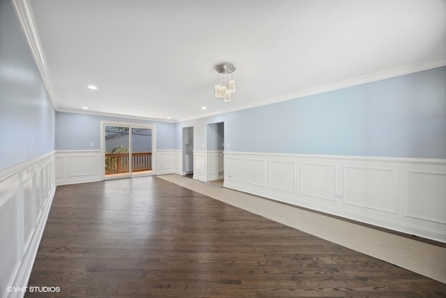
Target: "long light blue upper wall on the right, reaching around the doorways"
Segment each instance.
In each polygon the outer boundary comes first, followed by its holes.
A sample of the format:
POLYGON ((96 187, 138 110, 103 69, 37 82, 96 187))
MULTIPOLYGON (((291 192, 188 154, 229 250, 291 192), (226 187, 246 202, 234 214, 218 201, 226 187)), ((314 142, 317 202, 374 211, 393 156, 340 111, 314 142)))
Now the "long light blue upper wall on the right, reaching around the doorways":
POLYGON ((178 123, 176 132, 194 126, 196 150, 206 149, 207 124, 224 122, 226 151, 446 158, 445 82, 443 66, 178 123))

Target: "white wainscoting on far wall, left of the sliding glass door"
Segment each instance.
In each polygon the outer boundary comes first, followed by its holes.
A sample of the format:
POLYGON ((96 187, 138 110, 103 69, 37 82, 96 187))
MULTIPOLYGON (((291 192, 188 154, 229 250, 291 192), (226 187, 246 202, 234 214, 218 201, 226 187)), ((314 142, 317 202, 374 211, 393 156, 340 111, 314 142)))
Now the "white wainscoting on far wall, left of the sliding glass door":
POLYGON ((104 179, 100 150, 56 151, 56 184, 77 184, 104 179))

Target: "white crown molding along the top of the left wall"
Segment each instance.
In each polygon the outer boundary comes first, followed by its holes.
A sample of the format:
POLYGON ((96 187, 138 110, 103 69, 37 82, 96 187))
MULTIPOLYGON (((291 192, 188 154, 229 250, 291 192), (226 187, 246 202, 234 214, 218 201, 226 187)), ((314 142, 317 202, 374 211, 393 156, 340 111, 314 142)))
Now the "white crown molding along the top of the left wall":
POLYGON ((54 88, 51 78, 49 77, 47 61, 45 60, 45 54, 43 53, 43 48, 40 44, 36 22, 34 22, 31 2, 30 0, 11 0, 11 3, 13 3, 13 8, 17 14, 17 19, 22 26, 22 30, 24 31, 24 35, 28 41, 34 60, 36 61, 37 68, 42 76, 49 99, 56 110, 57 104, 54 96, 54 88))

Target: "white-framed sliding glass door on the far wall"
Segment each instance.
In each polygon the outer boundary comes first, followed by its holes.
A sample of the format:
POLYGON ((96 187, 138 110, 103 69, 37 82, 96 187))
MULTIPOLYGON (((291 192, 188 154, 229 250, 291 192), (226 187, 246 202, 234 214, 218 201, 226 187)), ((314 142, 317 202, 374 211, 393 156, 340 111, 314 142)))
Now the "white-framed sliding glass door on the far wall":
POLYGON ((151 174, 154 131, 151 126, 102 124, 105 179, 151 174))

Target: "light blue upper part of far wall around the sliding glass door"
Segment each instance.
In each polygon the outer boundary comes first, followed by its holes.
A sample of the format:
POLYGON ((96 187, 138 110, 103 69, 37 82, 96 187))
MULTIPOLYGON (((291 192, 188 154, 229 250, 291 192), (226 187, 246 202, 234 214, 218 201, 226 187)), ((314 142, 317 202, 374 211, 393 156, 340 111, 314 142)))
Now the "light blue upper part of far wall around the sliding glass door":
POLYGON ((99 150, 100 121, 156 126, 157 149, 175 148, 175 124, 172 123, 56 112, 56 150, 99 150))

